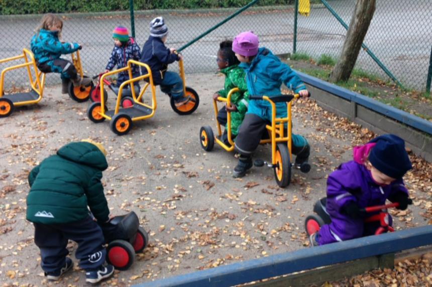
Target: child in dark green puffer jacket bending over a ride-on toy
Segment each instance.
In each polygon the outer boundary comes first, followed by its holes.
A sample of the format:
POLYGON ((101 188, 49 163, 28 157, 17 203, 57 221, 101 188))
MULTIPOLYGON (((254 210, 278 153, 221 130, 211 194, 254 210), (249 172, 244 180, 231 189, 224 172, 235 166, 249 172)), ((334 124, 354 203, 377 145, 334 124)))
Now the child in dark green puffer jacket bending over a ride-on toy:
POLYGON ((110 220, 100 182, 108 167, 105 155, 102 145, 92 140, 70 142, 29 174, 27 220, 35 226, 35 244, 48 280, 56 281, 72 268, 66 257, 68 240, 78 243, 75 256, 86 271, 86 282, 97 283, 114 273, 114 267, 105 264, 105 241, 97 224, 110 220))

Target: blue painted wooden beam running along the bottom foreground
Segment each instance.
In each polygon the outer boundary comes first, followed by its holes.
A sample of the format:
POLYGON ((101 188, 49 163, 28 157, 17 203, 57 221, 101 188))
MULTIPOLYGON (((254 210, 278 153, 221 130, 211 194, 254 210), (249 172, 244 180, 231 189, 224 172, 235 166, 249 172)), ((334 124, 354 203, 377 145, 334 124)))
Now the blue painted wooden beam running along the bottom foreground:
POLYGON ((157 281, 140 287, 232 286, 273 276, 394 253, 432 244, 432 225, 368 236, 259 259, 219 266, 157 281))

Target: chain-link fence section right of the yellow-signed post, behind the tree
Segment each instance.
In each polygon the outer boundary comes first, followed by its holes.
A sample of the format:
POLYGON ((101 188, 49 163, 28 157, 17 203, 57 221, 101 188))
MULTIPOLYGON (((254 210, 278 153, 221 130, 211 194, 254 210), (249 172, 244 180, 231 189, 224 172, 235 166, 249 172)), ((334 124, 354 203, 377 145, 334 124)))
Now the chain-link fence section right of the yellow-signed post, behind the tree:
MULTIPOLYGON (((356 1, 327 3, 350 24, 356 1)), ((297 53, 339 57, 347 30, 328 8, 314 5, 309 17, 299 17, 297 23, 297 53)), ((377 0, 364 44, 403 86, 424 91, 432 47, 432 0, 377 0)), ((356 67, 389 79, 364 49, 356 67)))

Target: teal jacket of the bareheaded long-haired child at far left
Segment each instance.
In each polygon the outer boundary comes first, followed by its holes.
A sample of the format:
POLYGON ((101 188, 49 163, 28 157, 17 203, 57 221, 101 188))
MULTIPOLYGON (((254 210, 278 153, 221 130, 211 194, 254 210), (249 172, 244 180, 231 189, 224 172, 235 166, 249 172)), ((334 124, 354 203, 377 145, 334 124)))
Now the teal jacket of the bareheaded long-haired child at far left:
POLYGON ((62 43, 58 39, 58 32, 41 29, 36 33, 30 43, 30 47, 39 64, 53 61, 62 54, 70 54, 78 50, 77 43, 62 43))

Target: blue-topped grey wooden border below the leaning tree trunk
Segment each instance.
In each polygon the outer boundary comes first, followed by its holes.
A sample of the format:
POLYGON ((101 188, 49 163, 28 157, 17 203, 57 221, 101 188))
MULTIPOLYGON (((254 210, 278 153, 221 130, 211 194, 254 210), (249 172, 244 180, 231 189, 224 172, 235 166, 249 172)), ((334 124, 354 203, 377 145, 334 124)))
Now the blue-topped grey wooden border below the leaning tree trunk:
POLYGON ((312 98, 322 108, 347 117, 378 133, 394 133, 406 146, 432 162, 432 122, 381 103, 367 96, 297 72, 308 86, 312 98))

